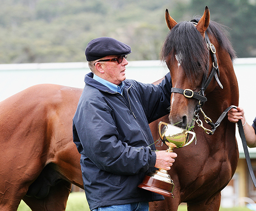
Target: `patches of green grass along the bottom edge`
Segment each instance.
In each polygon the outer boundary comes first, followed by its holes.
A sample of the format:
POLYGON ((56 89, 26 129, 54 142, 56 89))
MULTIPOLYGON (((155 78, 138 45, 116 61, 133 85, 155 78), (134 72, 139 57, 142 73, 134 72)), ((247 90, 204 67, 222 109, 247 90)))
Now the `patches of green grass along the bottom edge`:
MULTIPOLYGON (((17 211, 31 211, 28 206, 21 201, 17 211)), ((85 193, 75 192, 71 193, 68 197, 66 211, 90 211, 87 204, 85 193)), ((180 205, 178 211, 187 211, 187 205, 180 205)), ((220 208, 219 211, 251 211, 246 207, 232 207, 232 208, 220 208)))

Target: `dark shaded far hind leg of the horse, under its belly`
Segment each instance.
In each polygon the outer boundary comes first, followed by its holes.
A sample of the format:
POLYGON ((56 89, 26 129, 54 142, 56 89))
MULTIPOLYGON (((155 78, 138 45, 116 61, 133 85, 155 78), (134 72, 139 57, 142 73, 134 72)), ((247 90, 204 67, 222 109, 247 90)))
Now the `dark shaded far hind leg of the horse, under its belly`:
POLYGON ((24 196, 23 201, 32 211, 64 211, 70 192, 71 183, 61 180, 55 186, 50 188, 46 198, 38 199, 34 196, 24 196))

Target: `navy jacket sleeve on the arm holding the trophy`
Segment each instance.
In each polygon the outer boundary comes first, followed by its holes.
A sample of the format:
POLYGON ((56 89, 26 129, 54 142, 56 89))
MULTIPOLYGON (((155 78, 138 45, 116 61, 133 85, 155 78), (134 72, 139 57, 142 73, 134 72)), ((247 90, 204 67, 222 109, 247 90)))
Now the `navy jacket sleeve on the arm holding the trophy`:
POLYGON ((79 103, 73 119, 74 142, 80 154, 101 170, 119 175, 146 172, 154 167, 155 152, 148 146, 133 147, 119 140, 111 109, 101 96, 93 97, 79 103))

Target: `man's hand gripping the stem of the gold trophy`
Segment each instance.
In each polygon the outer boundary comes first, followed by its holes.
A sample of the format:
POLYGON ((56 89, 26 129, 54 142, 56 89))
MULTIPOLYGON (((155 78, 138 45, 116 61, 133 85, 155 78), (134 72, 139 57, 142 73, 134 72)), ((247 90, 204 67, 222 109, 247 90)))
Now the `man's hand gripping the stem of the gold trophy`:
POLYGON ((156 168, 161 168, 165 170, 170 170, 172 163, 175 161, 177 154, 175 152, 166 152, 166 151, 156 151, 156 168))

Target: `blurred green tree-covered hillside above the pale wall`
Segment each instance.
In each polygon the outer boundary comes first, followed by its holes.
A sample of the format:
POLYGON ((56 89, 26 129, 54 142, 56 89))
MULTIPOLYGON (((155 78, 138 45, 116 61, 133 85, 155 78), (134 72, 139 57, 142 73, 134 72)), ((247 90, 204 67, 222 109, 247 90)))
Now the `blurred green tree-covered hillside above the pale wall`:
POLYGON ((0 63, 85 61, 87 43, 102 36, 129 44, 129 60, 157 60, 165 9, 179 22, 206 5, 231 28, 238 56, 256 56, 256 0, 2 0, 0 63))

